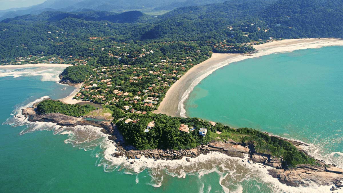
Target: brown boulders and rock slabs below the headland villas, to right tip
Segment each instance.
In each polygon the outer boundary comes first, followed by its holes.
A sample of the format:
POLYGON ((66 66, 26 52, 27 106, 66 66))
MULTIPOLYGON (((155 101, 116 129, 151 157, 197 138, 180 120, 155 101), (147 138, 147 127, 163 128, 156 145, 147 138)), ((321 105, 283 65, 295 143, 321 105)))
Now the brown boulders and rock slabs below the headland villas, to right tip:
MULTIPOLYGON (((301 142, 291 141, 297 147, 303 146, 301 142)), ((299 148, 302 150, 302 148, 299 148)), ((308 186, 310 183, 317 185, 333 185, 332 189, 340 189, 343 184, 343 170, 331 164, 326 164, 323 161, 318 161, 317 165, 303 164, 296 168, 282 169, 282 158, 271 156, 269 154, 260 154, 255 151, 252 145, 237 143, 233 140, 227 141, 213 141, 207 145, 199 146, 197 148, 188 150, 129 150, 125 151, 123 148, 115 153, 113 156, 126 156, 130 159, 140 159, 145 156, 151 159, 173 160, 181 159, 182 157, 195 158, 200 154, 208 154, 211 151, 221 152, 230 157, 244 158, 248 155, 248 159, 253 163, 262 163, 265 167, 270 166, 274 169, 269 169, 269 173, 277 178, 281 183, 289 186, 308 186)), ((186 161, 191 161, 186 158, 186 161)), ((134 164, 134 163, 132 163, 134 164)))

